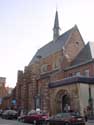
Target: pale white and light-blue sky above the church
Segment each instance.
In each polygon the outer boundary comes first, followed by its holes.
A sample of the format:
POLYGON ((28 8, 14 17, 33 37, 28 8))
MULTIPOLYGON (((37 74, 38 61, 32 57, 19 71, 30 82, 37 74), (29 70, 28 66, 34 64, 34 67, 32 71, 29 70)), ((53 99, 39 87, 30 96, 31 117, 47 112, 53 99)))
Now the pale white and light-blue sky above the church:
POLYGON ((0 76, 14 87, 37 49, 52 40, 56 8, 61 34, 77 24, 94 41, 94 0, 0 0, 0 76))

